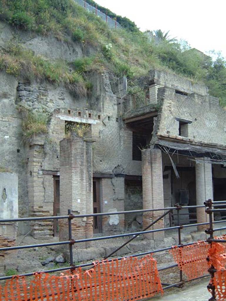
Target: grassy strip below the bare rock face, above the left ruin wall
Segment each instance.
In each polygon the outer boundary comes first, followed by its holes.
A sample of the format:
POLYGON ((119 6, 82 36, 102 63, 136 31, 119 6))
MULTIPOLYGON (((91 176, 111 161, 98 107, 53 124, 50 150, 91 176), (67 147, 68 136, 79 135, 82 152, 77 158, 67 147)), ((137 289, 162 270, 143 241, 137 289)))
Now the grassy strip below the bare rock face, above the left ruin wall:
POLYGON ((41 56, 36 56, 31 50, 23 48, 16 40, 11 41, 0 50, 0 70, 26 80, 46 79, 54 84, 64 84, 70 92, 78 96, 86 95, 83 77, 69 70, 65 61, 50 62, 41 56))

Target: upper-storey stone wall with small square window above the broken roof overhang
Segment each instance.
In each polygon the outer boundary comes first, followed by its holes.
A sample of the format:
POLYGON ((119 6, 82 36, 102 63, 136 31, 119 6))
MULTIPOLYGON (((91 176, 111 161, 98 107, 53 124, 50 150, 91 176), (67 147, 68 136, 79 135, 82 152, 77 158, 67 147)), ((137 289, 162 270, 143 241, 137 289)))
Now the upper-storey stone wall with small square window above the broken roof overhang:
MULTIPOLYGON (((159 116, 158 135, 183 139, 179 136, 178 119, 188 120, 186 141, 206 144, 226 144, 226 111, 219 106, 218 99, 209 95, 180 95, 175 89, 161 88, 164 100, 159 116)), ((162 95, 161 95, 162 96, 162 95)))

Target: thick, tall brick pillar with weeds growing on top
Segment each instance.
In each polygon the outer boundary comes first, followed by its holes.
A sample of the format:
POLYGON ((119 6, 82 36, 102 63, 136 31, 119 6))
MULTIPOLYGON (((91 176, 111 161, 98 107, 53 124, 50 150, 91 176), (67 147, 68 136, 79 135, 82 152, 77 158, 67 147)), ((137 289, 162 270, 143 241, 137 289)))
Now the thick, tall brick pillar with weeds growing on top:
MULTIPOLYGON (((92 141, 71 134, 60 141, 60 215, 89 214, 93 212, 92 194, 92 141)), ((73 239, 93 236, 93 218, 72 220, 73 239)), ((60 240, 68 239, 67 220, 60 220, 60 240)), ((76 244, 89 247, 91 243, 76 244)))

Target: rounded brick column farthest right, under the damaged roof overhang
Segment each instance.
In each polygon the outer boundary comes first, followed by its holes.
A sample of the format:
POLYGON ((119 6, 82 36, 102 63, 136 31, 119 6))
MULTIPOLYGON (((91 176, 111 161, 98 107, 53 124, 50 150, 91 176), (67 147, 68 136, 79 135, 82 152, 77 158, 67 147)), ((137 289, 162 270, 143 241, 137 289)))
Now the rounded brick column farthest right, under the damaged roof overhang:
MULTIPOLYGON (((203 158, 203 162, 196 163, 195 174, 196 204, 203 205, 206 200, 213 200, 212 164, 206 163, 205 158, 203 158)), ((209 222, 208 214, 205 213, 205 208, 197 208, 197 223, 204 222, 209 222)), ((197 228, 198 231, 202 231, 206 229, 206 225, 197 228)))

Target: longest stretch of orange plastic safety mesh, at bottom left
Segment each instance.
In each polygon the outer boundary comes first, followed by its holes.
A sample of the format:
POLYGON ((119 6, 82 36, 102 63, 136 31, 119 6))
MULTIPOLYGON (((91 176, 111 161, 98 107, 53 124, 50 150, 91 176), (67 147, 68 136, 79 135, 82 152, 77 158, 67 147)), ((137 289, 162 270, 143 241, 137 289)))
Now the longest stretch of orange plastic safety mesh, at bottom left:
POLYGON ((36 273, 32 279, 15 276, 0 287, 0 301, 135 301, 163 293, 156 260, 141 259, 95 262, 60 276, 36 273))

